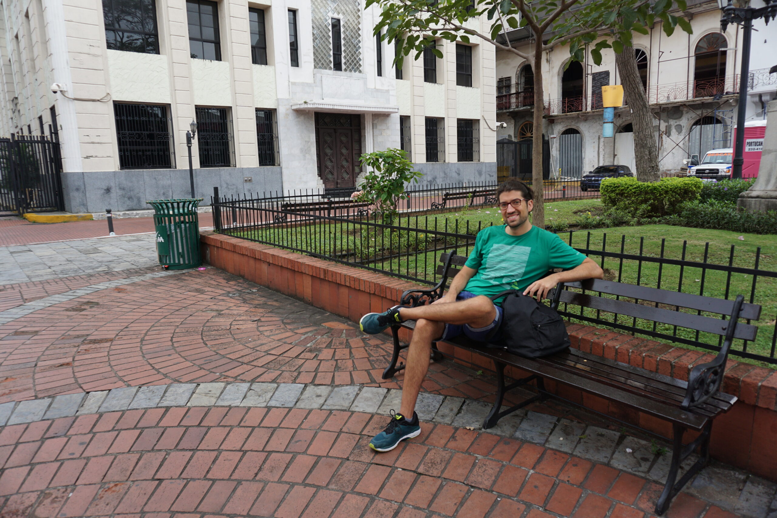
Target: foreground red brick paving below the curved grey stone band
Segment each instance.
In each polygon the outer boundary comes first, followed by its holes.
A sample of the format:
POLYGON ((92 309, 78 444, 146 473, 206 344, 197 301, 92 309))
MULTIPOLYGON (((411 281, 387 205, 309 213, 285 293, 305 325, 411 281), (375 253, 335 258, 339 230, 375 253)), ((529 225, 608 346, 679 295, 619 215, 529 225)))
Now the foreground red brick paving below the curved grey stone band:
MULTIPOLYGON (((373 454, 367 443, 385 420, 197 407, 5 426, 0 516, 646 518, 660 492, 489 433, 469 433, 462 445, 469 431, 444 425, 424 423, 416 439, 373 454)), ((682 493, 667 516, 734 515, 682 493)))

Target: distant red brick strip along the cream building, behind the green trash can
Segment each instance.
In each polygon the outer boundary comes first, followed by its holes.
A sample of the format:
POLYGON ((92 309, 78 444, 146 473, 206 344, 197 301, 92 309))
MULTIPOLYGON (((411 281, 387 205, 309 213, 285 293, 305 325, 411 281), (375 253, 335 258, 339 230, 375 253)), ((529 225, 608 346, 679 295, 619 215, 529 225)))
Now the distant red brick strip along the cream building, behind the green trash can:
MULTIPOLYGON (((200 214, 200 228, 213 226, 210 212, 200 214)), ((153 217, 120 217, 113 219, 117 235, 141 234, 154 231, 153 217)), ((108 235, 105 220, 70 221, 68 223, 30 223, 28 221, 0 221, 0 246, 29 245, 63 241, 65 239, 102 238, 108 235)))

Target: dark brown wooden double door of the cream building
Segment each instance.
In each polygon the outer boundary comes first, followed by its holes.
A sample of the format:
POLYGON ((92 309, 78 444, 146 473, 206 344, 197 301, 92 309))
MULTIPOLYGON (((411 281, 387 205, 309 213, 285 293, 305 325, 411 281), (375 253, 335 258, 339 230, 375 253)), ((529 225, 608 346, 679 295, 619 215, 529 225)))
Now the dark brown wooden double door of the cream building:
POLYGON ((355 187, 361 172, 361 116, 316 113, 315 141, 319 176, 326 189, 355 187))

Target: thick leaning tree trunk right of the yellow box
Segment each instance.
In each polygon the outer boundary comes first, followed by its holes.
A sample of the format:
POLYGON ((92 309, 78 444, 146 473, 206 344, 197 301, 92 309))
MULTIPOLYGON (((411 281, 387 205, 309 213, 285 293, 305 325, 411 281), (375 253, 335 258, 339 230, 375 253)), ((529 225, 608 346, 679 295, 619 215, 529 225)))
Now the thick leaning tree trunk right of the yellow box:
POLYGON ((653 133, 653 113, 650 112, 646 92, 636 68, 634 48, 623 47, 622 53, 615 54, 615 64, 621 75, 623 95, 632 111, 636 178, 640 182, 657 182, 660 172, 656 135, 653 133))

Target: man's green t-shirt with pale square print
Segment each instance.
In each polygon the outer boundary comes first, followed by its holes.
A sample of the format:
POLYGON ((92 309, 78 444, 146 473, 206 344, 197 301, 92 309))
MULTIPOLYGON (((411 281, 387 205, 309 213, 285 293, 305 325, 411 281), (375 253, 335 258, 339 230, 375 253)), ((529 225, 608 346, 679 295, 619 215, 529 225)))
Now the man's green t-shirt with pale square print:
POLYGON ((518 236, 507 234, 505 228, 493 226, 478 232, 466 262, 478 271, 465 290, 488 297, 504 290, 525 290, 549 269, 573 269, 586 257, 542 228, 532 227, 518 236))

